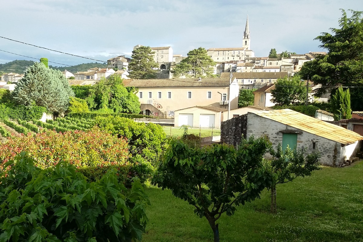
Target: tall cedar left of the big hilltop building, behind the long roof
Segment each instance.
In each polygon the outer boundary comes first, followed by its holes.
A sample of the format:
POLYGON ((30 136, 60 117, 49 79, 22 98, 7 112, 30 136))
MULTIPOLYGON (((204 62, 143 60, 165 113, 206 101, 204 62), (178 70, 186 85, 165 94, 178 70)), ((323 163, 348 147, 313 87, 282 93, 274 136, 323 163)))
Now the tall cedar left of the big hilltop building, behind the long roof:
POLYGON ((154 61, 154 53, 150 46, 140 46, 132 50, 129 77, 135 79, 155 78, 155 69, 158 68, 158 64, 154 61))

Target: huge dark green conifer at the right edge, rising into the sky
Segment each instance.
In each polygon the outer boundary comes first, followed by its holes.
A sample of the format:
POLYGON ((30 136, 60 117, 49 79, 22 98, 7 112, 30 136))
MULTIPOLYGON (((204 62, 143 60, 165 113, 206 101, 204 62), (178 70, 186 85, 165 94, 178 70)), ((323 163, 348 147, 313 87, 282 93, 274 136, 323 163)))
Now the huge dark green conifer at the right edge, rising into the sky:
POLYGON ((360 111, 363 109, 363 12, 349 11, 351 17, 342 9, 339 29, 330 28, 332 33, 322 33, 315 38, 327 54, 306 62, 300 73, 305 79, 309 75, 314 83, 322 85, 317 95, 339 86, 355 86, 350 90, 352 110, 360 111))

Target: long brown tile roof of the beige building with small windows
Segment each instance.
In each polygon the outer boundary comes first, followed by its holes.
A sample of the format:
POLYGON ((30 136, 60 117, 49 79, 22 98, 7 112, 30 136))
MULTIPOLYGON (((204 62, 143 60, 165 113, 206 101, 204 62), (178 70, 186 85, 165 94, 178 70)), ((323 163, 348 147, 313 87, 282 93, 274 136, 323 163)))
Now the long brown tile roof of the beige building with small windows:
MULTIPOLYGON (((229 73, 228 73, 229 74, 229 73)), ((234 78, 232 78, 232 81, 234 78)), ((227 87, 228 78, 131 79, 125 86, 133 87, 227 87)))

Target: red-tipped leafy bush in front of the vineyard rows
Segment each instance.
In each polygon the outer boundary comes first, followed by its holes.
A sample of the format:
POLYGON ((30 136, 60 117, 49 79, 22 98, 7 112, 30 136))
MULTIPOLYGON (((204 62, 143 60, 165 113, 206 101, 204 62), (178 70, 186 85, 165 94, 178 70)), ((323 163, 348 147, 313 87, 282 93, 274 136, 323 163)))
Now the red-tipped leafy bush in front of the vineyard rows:
POLYGON ((27 152, 35 160, 35 165, 42 169, 67 160, 91 180, 100 179, 110 167, 119 169, 120 180, 129 179, 126 140, 97 128, 64 134, 47 130, 40 134, 12 137, 0 145, 0 166, 21 151, 27 152))

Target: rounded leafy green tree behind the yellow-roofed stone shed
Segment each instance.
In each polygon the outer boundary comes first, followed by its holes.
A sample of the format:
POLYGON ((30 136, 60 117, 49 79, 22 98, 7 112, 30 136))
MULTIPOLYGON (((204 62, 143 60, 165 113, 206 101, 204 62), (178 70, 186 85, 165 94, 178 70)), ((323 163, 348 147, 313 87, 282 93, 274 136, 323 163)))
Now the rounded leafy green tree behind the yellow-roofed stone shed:
POLYGON ((306 86, 300 81, 299 75, 278 78, 275 89, 271 90, 271 102, 277 105, 304 103, 306 100, 306 86))

